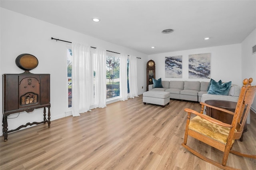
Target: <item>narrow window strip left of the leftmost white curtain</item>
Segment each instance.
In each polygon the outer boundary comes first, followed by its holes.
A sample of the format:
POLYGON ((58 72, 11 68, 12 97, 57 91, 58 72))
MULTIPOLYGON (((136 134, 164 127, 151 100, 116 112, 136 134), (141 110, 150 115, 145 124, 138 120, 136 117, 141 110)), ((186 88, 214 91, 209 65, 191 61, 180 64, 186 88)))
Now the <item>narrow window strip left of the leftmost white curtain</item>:
POLYGON ((67 49, 68 107, 72 107, 72 49, 67 49))

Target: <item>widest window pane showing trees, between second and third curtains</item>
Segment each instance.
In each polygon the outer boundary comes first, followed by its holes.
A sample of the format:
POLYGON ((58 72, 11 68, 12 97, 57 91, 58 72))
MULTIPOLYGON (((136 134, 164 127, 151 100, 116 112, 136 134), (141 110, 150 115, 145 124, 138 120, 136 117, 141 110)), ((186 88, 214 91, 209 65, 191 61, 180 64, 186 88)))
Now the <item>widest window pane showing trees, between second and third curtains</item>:
POLYGON ((120 96, 119 67, 120 58, 113 55, 106 56, 106 89, 107 99, 120 96))

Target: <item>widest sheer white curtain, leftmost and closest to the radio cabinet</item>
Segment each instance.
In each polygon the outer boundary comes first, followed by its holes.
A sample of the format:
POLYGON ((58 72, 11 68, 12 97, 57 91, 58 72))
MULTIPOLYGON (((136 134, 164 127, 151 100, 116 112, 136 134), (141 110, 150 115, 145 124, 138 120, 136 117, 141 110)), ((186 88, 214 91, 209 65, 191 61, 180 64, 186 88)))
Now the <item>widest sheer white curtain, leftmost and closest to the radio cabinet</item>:
POLYGON ((92 91, 90 46, 72 43, 72 115, 87 112, 92 91))

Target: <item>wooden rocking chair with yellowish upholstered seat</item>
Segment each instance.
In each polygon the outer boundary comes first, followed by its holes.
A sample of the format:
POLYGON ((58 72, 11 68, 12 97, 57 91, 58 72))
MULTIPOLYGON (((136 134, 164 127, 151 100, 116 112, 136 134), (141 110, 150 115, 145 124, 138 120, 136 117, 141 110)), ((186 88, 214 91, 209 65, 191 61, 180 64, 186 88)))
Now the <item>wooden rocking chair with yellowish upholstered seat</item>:
POLYGON ((256 86, 251 86, 251 83, 252 78, 249 80, 244 79, 243 87, 241 88, 234 113, 226 109, 214 107, 202 102, 200 102, 202 105, 200 113, 193 111, 192 109, 184 109, 188 113, 188 117, 184 134, 184 142, 182 143, 182 146, 184 146, 187 150, 202 160, 205 160, 206 162, 209 162, 214 166, 222 169, 234 169, 232 167, 226 166, 229 152, 239 156, 256 159, 256 155, 248 155, 231 150, 234 140, 239 139, 242 136, 246 118, 255 97, 256 86), (218 109, 222 112, 234 115, 232 124, 229 125, 207 115, 203 115, 204 106, 218 109), (190 120, 191 113, 195 114, 196 116, 190 120), (206 156, 203 156, 196 150, 186 145, 188 135, 224 152, 221 164, 210 158, 207 158, 206 156))

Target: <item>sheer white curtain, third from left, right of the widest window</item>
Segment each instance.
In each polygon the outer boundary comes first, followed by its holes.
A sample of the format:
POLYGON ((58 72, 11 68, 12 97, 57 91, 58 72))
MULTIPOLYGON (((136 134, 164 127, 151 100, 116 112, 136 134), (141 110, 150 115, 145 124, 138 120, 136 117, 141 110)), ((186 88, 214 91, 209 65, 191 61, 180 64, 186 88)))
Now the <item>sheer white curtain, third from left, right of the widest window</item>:
POLYGON ((127 100, 128 88, 127 88, 127 55, 120 54, 120 100, 127 100))

